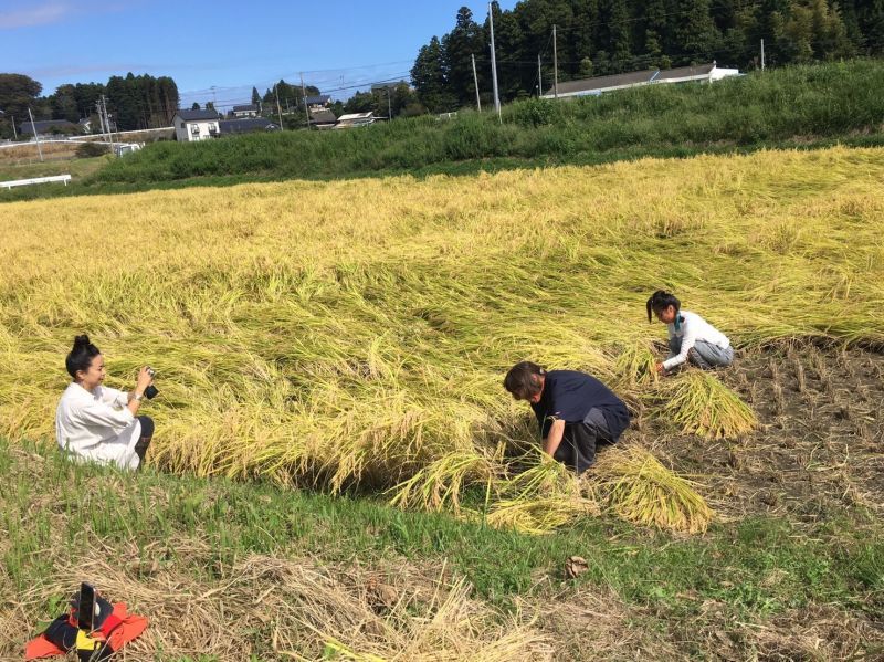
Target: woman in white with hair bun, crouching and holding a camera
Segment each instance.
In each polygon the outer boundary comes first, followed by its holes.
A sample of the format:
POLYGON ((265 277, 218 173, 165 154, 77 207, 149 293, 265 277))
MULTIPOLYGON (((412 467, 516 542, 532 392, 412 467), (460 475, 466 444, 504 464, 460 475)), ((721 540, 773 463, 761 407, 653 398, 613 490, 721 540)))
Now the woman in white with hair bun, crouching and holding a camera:
POLYGON ((74 338, 65 365, 73 381, 55 410, 59 445, 84 461, 137 469, 154 435, 150 417, 135 416, 154 382, 150 369, 141 368, 130 393, 102 386, 104 357, 86 335, 74 338))

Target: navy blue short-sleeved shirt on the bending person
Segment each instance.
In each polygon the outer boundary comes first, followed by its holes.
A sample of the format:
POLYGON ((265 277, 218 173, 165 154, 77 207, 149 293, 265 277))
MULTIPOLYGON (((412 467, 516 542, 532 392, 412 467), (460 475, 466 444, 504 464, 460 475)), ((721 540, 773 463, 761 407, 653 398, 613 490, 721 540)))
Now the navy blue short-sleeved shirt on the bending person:
POLYGON ((582 423, 590 409, 604 414, 613 441, 629 427, 629 410, 623 401, 594 377, 576 370, 547 372, 540 401, 530 404, 543 438, 552 424, 550 417, 566 423, 582 423))

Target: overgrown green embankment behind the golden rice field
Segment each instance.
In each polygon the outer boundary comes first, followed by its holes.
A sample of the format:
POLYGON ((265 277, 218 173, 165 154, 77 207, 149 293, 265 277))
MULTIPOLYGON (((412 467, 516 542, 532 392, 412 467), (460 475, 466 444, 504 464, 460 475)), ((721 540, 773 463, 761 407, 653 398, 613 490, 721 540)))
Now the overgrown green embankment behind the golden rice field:
POLYGON ((877 61, 754 73, 711 86, 660 85, 567 103, 529 101, 451 122, 397 120, 365 130, 284 133, 148 148, 76 182, 0 200, 243 181, 398 172, 473 174, 685 157, 835 143, 882 144, 884 66, 877 61))

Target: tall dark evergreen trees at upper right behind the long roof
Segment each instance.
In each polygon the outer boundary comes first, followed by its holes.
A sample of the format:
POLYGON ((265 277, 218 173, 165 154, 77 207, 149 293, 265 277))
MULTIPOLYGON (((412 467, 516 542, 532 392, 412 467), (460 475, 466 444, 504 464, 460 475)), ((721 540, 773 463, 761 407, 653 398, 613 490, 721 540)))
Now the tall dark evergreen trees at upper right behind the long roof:
MULTIPOLYGON (((552 27, 559 81, 716 61, 743 71, 884 54, 882 0, 523 0, 493 3, 502 101, 552 83, 552 27), (541 59, 538 72, 538 55, 541 59)), ((462 7, 454 28, 422 46, 411 70, 431 112, 491 101, 490 23, 462 7)))

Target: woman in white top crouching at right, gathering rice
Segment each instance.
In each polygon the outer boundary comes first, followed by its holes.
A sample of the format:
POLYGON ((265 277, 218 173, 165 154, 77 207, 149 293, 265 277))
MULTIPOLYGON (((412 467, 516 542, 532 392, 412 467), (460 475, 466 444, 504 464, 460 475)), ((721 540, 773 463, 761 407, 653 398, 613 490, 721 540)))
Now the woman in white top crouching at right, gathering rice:
POLYGON ((730 340, 696 313, 683 311, 675 295, 657 290, 648 300, 648 322, 653 313, 663 322, 670 335, 670 356, 656 364, 656 370, 666 375, 684 362, 703 370, 729 366, 734 362, 730 340))

